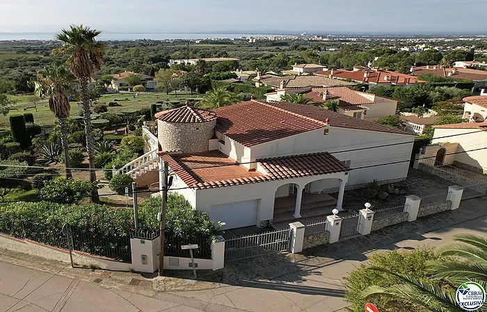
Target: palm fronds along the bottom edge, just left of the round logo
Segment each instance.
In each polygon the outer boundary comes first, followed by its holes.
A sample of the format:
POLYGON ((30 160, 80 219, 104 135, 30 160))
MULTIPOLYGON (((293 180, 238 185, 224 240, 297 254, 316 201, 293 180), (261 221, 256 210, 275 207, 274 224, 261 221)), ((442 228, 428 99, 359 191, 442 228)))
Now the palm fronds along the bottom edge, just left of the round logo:
POLYGON ((456 304, 455 290, 449 287, 442 287, 440 281, 423 281, 413 276, 395 273, 381 267, 371 267, 370 269, 395 276, 401 280, 402 283, 387 288, 370 286, 362 292, 362 295, 365 298, 375 297, 382 300, 402 299, 417 306, 421 306, 425 308, 426 311, 463 311, 458 304, 456 304))

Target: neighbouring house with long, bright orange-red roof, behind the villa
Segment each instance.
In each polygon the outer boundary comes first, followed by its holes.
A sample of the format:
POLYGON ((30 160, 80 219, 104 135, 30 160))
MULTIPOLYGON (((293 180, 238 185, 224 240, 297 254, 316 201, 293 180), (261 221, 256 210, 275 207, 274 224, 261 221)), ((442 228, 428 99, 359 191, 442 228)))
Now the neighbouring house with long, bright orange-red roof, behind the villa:
POLYGON ((390 70, 326 70, 324 72, 315 72, 314 75, 326 76, 336 79, 350 79, 362 84, 372 84, 380 86, 415 86, 426 81, 417 79, 412 75, 401 74, 400 72, 391 72, 390 70))

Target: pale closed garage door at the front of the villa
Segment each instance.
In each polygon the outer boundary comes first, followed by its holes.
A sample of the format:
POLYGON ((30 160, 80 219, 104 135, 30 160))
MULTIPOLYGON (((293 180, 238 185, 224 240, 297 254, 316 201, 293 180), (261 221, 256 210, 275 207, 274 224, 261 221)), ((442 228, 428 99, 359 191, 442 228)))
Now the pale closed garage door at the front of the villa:
POLYGON ((223 228, 241 228, 244 226, 255 226, 257 220, 258 199, 253 201, 238 201, 235 203, 224 203, 213 205, 209 217, 213 221, 225 222, 223 228))

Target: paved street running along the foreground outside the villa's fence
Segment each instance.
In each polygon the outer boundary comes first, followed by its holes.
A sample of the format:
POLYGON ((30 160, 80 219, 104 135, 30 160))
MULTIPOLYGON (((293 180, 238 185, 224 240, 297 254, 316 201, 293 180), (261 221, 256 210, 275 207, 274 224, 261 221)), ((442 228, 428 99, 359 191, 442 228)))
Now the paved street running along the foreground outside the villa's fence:
MULTIPOLYGON (((456 233, 486 233, 487 217, 396 242, 394 247, 412 249, 440 246, 456 233)), ((385 246, 383 250, 392 246, 385 246)), ((224 286, 198 291, 157 292, 152 285, 129 285, 130 279, 111 279, 115 272, 75 271, 65 263, 42 258, 26 259, 0 249, 0 312, 13 311, 342 311, 342 277, 367 258, 358 254, 308 272, 283 276, 278 281, 224 286), (24 265, 30 263, 33 268, 24 265), (53 274, 54 273, 54 274, 53 274), (106 278, 95 279, 90 274, 106 278), (74 279, 72 278, 74 276, 74 279), (101 281, 101 282, 100 282, 101 281), (97 283, 98 282, 98 283, 97 283)), ((81 270, 81 271, 80 271, 81 270)), ((128 274, 128 273, 127 273, 128 274)), ((136 274, 133 274, 136 276, 136 274)), ((145 283, 146 281, 144 281, 145 283)))

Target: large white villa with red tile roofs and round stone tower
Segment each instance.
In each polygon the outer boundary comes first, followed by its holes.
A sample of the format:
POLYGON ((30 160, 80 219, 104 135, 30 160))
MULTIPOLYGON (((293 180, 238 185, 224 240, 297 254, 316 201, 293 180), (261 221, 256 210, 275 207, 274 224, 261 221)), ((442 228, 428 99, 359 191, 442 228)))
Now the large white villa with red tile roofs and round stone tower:
POLYGON ((346 187, 404 180, 415 139, 320 107, 255 100, 214 111, 186 105, 156 118, 171 192, 225 228, 324 220, 342 210, 346 187), (385 142, 404 144, 374 148, 385 142), (337 191, 337 199, 326 194, 337 191))

